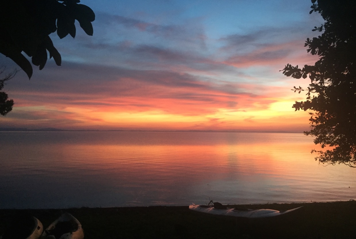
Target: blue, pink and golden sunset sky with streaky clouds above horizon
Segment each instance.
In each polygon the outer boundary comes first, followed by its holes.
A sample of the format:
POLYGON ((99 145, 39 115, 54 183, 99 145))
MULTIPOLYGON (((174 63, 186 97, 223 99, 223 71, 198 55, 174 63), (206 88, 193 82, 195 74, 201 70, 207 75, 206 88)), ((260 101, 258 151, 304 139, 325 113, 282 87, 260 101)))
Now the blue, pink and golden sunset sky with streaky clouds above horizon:
MULTIPOLYGON (((62 55, 20 71, 3 89, 15 102, 0 127, 67 130, 302 132, 295 112, 307 79, 285 65, 314 65, 304 41, 323 19, 310 0, 82 0, 94 34, 50 35, 62 55)), ((16 65, 5 56, 8 71, 16 65)), ((19 68, 19 67, 17 67, 19 68)))

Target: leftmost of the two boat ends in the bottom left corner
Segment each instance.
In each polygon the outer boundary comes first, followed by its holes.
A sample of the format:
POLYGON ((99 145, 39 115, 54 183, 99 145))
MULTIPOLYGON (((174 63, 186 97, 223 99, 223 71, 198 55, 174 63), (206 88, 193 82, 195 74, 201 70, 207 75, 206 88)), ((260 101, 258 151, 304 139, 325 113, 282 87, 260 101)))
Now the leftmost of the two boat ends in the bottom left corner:
POLYGON ((0 239, 38 239, 43 231, 40 220, 33 216, 16 218, 0 239))

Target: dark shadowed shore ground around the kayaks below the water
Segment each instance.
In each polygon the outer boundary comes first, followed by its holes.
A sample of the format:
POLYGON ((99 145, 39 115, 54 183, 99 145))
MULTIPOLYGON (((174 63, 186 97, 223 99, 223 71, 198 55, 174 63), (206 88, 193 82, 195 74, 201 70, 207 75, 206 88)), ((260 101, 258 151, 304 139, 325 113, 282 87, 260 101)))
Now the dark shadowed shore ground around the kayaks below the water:
POLYGON ((0 235, 19 213, 32 214, 46 228, 69 212, 82 223, 85 239, 356 238, 356 201, 237 207, 288 210, 300 206, 281 216, 249 220, 194 212, 188 206, 0 210, 0 235))

